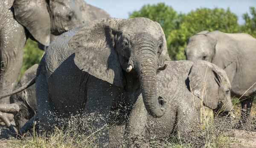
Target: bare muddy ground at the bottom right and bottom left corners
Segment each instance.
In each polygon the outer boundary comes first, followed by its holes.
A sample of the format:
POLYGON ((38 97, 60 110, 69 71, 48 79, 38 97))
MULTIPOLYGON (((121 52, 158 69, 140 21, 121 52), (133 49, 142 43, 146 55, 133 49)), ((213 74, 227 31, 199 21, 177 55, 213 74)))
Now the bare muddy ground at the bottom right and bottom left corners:
MULTIPOLYGON (((254 105, 252 108, 251 118, 239 129, 236 129, 236 125, 238 125, 240 118, 239 106, 237 106, 234 110, 234 118, 227 120, 215 119, 215 122, 212 125, 212 129, 216 129, 215 132, 217 135, 218 132, 220 132, 219 135, 223 136, 222 138, 226 141, 226 144, 224 145, 225 148, 256 148, 256 119, 253 118, 256 117, 255 113, 256 107, 254 105)), ((0 148, 27 147, 27 145, 23 145, 20 140, 14 138, 6 139, 8 138, 9 131, 8 129, 4 128, 4 125, 0 125, 0 127, 2 127, 0 129, 0 148)), ((203 139, 204 136, 201 138, 203 139)), ((195 140, 195 142, 200 142, 200 140, 201 139, 199 138, 195 140)), ((203 147, 205 147, 205 145, 203 147)))

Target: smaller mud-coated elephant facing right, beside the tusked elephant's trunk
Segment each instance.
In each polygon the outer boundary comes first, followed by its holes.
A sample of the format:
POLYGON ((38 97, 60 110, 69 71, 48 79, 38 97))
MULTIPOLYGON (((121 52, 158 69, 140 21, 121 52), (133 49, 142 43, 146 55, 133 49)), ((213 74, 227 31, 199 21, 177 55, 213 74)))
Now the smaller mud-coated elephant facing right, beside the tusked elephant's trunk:
POLYGON ((109 131, 111 141, 116 145, 124 141, 121 138, 124 134, 130 139, 128 142, 152 137, 165 140, 177 132, 181 139, 187 139, 200 123, 201 104, 215 111, 231 110, 231 85, 224 70, 207 61, 165 63, 168 65, 166 70, 157 75, 157 91, 167 101, 166 112, 160 118, 153 118, 139 98, 128 115, 128 122, 113 125, 109 131))

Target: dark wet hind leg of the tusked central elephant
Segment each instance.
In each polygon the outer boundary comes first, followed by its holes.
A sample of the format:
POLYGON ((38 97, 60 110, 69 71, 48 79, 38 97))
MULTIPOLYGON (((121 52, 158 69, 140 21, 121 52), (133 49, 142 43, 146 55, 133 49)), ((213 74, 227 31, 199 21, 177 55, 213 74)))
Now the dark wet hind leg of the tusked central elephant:
POLYGON ((38 131, 40 134, 48 133, 52 131, 53 125, 56 123, 56 112, 51 103, 49 88, 44 75, 38 75, 35 90, 38 110, 38 131))

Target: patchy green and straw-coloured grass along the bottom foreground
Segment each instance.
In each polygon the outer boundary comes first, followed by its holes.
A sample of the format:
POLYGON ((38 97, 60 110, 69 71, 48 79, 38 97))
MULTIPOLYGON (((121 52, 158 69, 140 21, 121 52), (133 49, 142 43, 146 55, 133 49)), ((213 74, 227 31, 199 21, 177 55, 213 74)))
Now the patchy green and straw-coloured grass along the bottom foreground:
MULTIPOLYGON (((218 114, 217 114, 218 115, 218 114)), ((199 133, 199 140, 203 143, 203 148, 226 148, 230 142, 237 142, 234 139, 230 139, 225 136, 221 131, 221 128, 216 128, 215 119, 213 118, 213 112, 208 107, 202 107, 200 111, 200 126, 195 129, 199 133), (200 139, 200 135, 204 138, 200 139)), ((76 127, 75 127, 76 128, 76 127)), ((6 146, 16 147, 16 148, 96 148, 97 139, 99 134, 96 132, 91 132, 88 135, 80 134, 76 132, 75 128, 67 128, 67 130, 62 130, 60 128, 54 129, 54 131, 49 134, 49 136, 42 136, 34 134, 26 139, 8 139, 5 140, 6 146)), ((99 129, 98 131, 102 130, 99 129)), ((182 142, 180 140, 180 135, 177 134, 172 139, 169 139, 166 143, 154 141, 150 142, 149 145, 152 148, 196 148, 192 142, 182 142)), ((197 140, 195 141, 197 142, 197 140)), ((1 145, 0 145, 1 146, 1 145)))

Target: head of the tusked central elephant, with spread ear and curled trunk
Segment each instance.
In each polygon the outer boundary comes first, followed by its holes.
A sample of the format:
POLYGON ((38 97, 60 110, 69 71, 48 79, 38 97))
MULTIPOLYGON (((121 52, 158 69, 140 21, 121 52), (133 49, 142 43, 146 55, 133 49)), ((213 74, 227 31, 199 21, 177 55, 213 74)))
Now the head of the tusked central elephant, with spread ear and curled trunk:
POLYGON ((144 17, 102 18, 79 29, 68 46, 79 69, 124 89, 136 81, 148 113, 163 115, 166 102, 157 94, 156 75, 165 69, 168 53, 159 23, 144 17))

